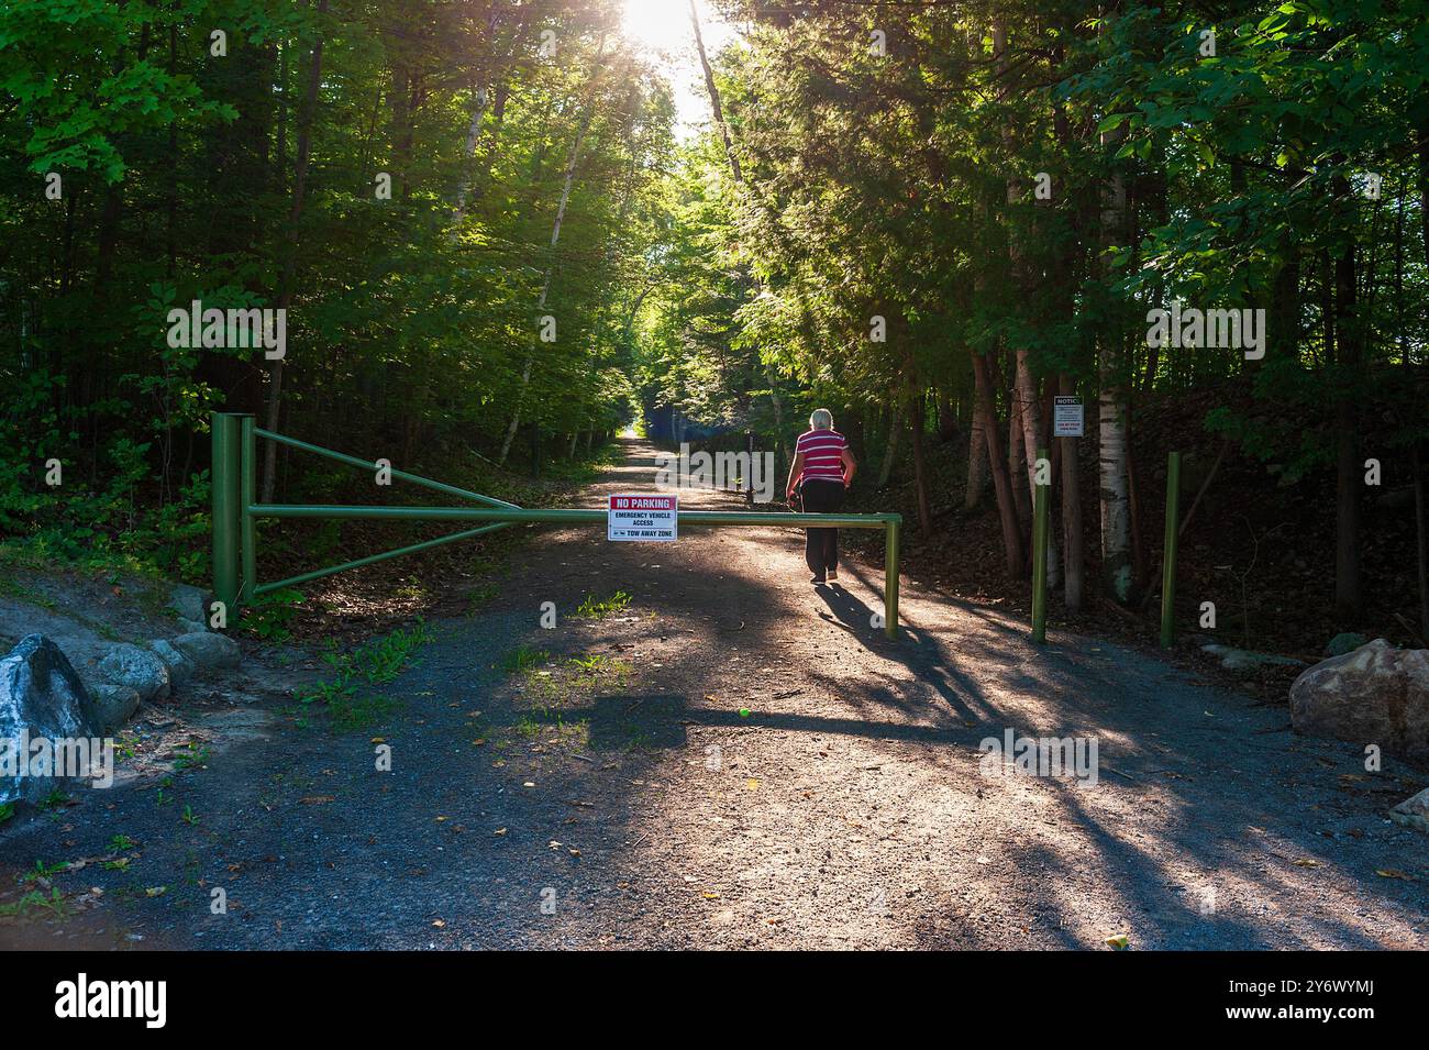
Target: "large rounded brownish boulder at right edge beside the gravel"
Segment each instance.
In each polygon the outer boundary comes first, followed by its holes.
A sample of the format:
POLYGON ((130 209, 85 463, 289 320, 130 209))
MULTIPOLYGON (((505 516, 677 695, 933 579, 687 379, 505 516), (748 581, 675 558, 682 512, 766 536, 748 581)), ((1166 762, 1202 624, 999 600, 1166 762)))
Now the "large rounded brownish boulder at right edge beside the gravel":
POLYGON ((1290 686, 1290 721, 1298 733, 1429 761, 1429 650, 1375 639, 1322 660, 1290 686))

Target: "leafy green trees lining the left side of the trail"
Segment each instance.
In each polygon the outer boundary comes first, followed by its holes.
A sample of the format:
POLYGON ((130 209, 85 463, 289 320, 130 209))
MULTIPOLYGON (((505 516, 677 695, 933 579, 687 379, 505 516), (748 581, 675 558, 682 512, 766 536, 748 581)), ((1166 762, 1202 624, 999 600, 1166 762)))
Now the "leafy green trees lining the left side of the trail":
MULTIPOLYGON (((420 473, 500 459, 513 416, 517 457, 627 419, 673 104, 619 13, 0 7, 0 536, 207 580, 207 417, 262 413, 273 363, 170 346, 194 301, 286 307, 279 429, 420 473)), ((283 463, 280 496, 332 479, 283 463)))

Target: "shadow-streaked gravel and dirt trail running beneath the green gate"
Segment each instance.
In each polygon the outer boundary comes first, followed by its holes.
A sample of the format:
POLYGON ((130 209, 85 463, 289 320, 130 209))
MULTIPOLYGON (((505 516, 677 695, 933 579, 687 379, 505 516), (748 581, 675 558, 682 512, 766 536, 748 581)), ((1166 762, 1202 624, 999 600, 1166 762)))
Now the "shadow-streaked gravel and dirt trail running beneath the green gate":
MULTIPOLYGON (((627 451, 586 506, 653 489, 653 450, 627 451)), ((57 876, 106 889, 99 906, 0 940, 1426 946, 1429 847, 1385 819, 1422 786, 1412 771, 1366 773, 1355 747, 1292 736, 1283 707, 1109 643, 1033 649, 1025 624, 907 584, 887 641, 869 620, 882 569, 842 576, 810 586, 790 529, 547 531, 492 611, 436 624, 372 731, 247 704, 227 729, 210 717, 209 769, 179 774, 174 801, 136 780, 0 831, 6 867, 140 843, 126 871, 57 876), (626 609, 574 617, 616 591, 626 609), (552 660, 509 673, 519 647, 552 660), (979 741, 1006 730, 1095 737, 1096 783, 985 776, 979 741), (216 886, 227 914, 210 911, 216 886)))

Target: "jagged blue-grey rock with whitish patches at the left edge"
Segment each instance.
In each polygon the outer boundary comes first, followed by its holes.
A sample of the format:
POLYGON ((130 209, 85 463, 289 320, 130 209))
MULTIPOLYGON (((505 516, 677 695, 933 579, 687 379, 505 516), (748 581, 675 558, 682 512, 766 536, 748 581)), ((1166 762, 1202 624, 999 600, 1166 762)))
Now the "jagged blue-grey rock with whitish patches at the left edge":
POLYGON ((26 634, 0 659, 0 804, 39 803, 61 787, 60 770, 37 770, 34 741, 90 740, 100 717, 69 659, 43 634, 26 634), (21 751, 24 744, 30 744, 21 751))

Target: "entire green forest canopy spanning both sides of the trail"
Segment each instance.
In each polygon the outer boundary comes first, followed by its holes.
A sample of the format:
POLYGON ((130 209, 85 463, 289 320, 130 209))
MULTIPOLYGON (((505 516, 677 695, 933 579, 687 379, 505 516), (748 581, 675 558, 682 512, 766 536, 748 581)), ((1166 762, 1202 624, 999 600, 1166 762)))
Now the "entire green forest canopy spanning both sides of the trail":
POLYGON ((201 577, 213 410, 437 470, 636 416, 786 457, 827 406, 925 534, 963 434, 1020 579, 1062 396, 1053 579, 1132 603, 1145 407, 1203 396, 1269 484, 1333 479, 1362 611, 1366 461, 1423 514, 1423 3, 689 13, 737 30, 683 57, 694 133, 619 0, 6 4, 0 530, 201 577), (176 309, 283 311, 282 356, 176 309))

